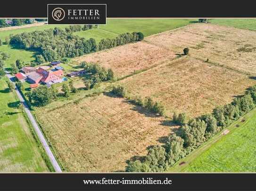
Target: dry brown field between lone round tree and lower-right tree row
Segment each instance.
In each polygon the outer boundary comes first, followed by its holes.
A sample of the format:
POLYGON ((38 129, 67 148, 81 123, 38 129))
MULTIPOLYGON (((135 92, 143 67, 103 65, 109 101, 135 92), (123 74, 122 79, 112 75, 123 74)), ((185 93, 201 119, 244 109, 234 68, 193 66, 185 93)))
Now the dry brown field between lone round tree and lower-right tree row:
POLYGON ((247 75, 183 57, 128 77, 121 84, 133 95, 161 101, 167 115, 198 116, 231 102, 256 82, 247 75))

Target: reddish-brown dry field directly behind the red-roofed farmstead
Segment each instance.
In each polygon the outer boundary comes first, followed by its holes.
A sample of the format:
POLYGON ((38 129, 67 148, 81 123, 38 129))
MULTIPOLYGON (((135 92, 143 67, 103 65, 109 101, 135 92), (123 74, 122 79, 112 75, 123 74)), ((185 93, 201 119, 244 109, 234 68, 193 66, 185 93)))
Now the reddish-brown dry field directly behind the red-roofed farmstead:
POLYGON ((83 55, 75 58, 74 61, 99 63, 101 66, 113 69, 117 77, 124 77, 138 70, 171 61, 175 57, 175 53, 171 50, 142 41, 83 55))

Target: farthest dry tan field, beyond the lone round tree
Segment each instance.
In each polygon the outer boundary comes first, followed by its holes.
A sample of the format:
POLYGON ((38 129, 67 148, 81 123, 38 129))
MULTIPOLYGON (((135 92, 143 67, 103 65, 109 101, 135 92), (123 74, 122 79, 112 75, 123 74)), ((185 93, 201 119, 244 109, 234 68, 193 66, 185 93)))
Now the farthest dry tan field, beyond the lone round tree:
POLYGON ((191 57, 256 75, 256 31, 198 23, 150 36, 145 41, 175 53, 189 47, 191 57))

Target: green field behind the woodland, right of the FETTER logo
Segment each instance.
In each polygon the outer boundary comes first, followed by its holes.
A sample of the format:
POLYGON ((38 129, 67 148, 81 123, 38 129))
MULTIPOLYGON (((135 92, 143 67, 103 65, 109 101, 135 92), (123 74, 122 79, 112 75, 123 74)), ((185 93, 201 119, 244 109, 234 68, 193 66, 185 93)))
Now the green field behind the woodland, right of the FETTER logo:
POLYGON ((107 19, 106 25, 98 29, 79 31, 75 34, 84 38, 114 38, 125 32, 141 31, 145 36, 176 29, 196 21, 195 19, 107 19))

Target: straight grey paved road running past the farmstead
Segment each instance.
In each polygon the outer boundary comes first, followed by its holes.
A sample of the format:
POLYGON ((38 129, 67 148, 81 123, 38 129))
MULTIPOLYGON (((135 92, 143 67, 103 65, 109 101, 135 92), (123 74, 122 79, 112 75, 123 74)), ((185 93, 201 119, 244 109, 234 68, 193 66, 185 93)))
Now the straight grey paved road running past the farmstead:
MULTIPOLYGON (((7 71, 6 71, 6 73, 7 73, 6 76, 9 78, 9 80, 14 83, 14 76, 11 76, 7 71)), ((23 106, 25 108, 25 112, 26 112, 36 134, 37 134, 37 137, 40 139, 41 144, 42 144, 46 154, 48 155, 53 168, 55 169, 56 172, 62 172, 60 166, 58 165, 56 158, 54 157, 53 153, 50 150, 50 147, 49 147, 46 139, 44 138, 40 128, 38 127, 38 124, 35 121, 35 118, 31 114, 29 107, 28 107, 27 103, 25 102, 25 100, 23 99, 21 93, 17 90, 17 87, 15 88, 15 91, 17 93, 18 98, 20 99, 21 103, 23 104, 23 106)))

